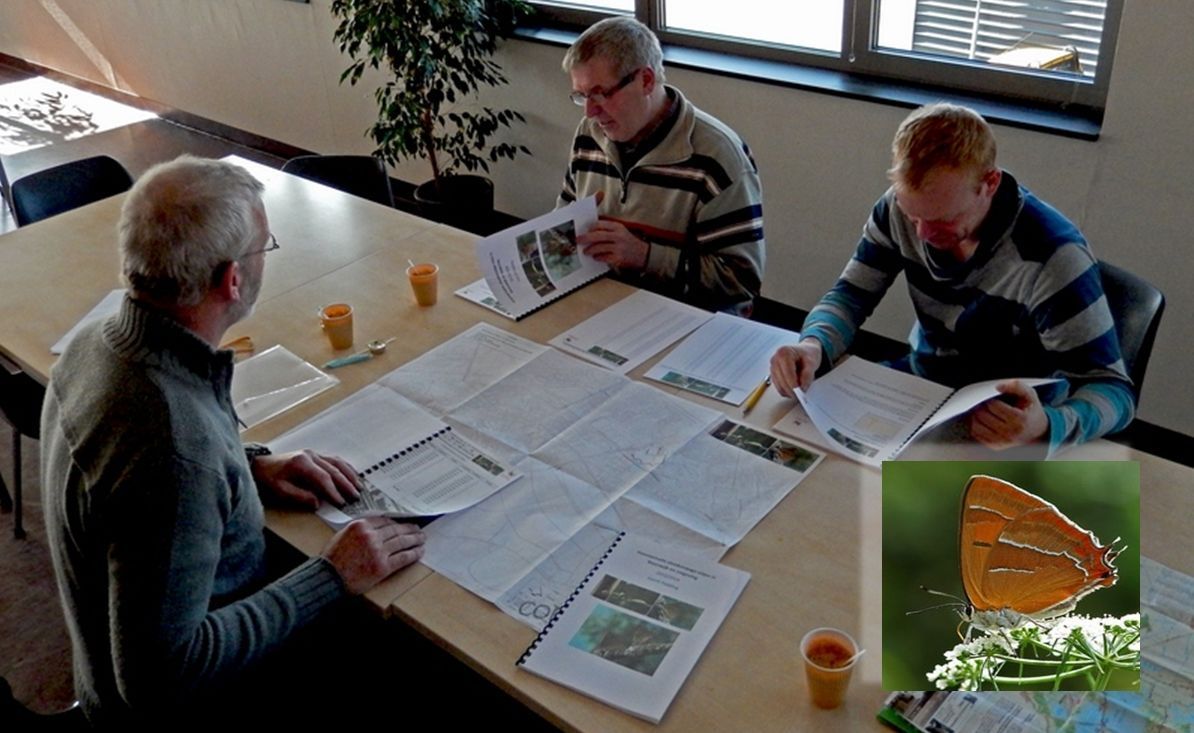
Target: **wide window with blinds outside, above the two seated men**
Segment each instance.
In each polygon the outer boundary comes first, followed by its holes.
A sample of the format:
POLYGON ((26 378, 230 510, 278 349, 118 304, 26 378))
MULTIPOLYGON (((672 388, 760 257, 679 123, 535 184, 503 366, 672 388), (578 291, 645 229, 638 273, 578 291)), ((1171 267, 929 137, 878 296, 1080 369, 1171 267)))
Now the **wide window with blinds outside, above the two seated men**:
POLYGON ((580 29, 634 14, 665 44, 1100 117, 1122 0, 535 0, 580 29))

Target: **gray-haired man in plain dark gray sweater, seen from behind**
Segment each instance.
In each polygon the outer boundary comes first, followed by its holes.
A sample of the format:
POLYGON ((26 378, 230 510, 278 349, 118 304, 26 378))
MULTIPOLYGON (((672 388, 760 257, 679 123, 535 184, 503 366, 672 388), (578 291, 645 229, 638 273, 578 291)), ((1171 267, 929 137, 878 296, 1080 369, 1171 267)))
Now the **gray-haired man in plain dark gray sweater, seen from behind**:
POLYGON ((210 706, 345 596, 421 556, 423 534, 358 521, 269 581, 263 497, 358 495, 343 460, 242 445, 226 329, 278 248, 261 184, 183 156, 148 171, 119 223, 129 291, 55 364, 42 414, 47 535, 75 689, 100 726, 210 706))

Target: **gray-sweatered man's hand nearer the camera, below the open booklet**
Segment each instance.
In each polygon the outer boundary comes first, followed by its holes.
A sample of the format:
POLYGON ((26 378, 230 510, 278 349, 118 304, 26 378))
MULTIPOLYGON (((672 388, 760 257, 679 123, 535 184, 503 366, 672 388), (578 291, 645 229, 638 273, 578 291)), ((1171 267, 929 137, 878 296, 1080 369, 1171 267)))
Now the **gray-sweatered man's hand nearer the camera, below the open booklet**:
POLYGON ((336 532, 321 555, 353 596, 368 591, 423 556, 423 530, 387 517, 356 519, 336 532))

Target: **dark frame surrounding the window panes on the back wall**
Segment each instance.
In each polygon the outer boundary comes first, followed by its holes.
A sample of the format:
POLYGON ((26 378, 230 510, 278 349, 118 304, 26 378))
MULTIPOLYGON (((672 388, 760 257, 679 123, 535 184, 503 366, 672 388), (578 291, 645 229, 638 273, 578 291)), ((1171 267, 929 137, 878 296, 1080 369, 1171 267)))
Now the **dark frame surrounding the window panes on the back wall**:
MULTIPOLYGON (((566 2, 566 0, 558 1, 566 2)), ((540 24, 566 31, 579 32, 602 18, 620 14, 553 5, 552 0, 530 0, 530 2, 537 11, 536 20, 540 24)), ((745 60, 747 66, 750 60, 758 60, 768 66, 778 63, 811 70, 833 72, 844 78, 842 82, 833 86, 844 85, 854 88, 896 86, 901 90, 896 92, 897 99, 907 98, 907 90, 919 90, 930 96, 935 93, 938 97, 948 96, 962 100, 987 100, 1004 109, 1009 104, 1023 106, 1030 115, 1041 112, 1046 116, 1059 115, 1076 118, 1079 122, 1078 129, 1061 129, 1059 131, 1082 137, 1097 136, 1098 125, 1102 123, 1124 10, 1124 0, 1107 0, 1096 73, 1093 78, 1079 79, 1058 72, 992 68, 985 61, 931 56, 918 51, 878 49, 874 39, 878 38, 879 33, 880 0, 843 0, 842 51, 839 54, 778 47, 750 39, 665 30, 661 27, 665 2, 666 0, 635 0, 634 2, 634 16, 656 31, 660 43, 665 47, 665 57, 672 56, 669 53, 669 47, 677 50, 693 49, 737 56, 745 60)), ((912 97, 915 98, 915 96, 913 93, 912 97)), ((1029 124, 1029 127, 1036 125, 1029 124)))

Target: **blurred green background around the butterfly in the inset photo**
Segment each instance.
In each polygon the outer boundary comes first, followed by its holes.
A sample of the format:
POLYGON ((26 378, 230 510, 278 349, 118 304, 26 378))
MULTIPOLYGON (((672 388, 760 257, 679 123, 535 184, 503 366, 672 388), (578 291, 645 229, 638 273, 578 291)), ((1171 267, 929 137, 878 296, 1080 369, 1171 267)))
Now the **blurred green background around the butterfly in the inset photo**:
POLYGON ((975 474, 1010 481, 1052 503, 1101 544, 1122 538, 1127 549, 1115 560, 1119 581, 1087 596, 1075 612, 1121 616, 1140 610, 1139 464, 887 461, 882 472, 885 689, 929 689, 925 675, 959 642, 959 617, 952 608, 905 614, 949 600, 925 593, 921 585, 965 598, 958 521, 962 488, 975 474))

